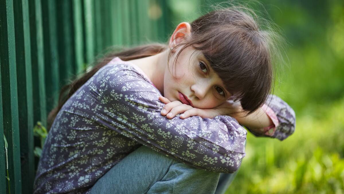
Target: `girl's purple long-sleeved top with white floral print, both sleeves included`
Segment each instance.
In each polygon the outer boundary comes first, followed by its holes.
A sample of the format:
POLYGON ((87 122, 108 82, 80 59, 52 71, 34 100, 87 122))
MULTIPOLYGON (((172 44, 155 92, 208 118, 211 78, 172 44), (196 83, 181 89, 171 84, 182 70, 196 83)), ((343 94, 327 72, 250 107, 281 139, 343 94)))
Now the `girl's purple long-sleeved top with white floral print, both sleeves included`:
MULTIPOLYGON (((236 119, 168 119, 160 114, 160 95, 137 66, 112 59, 57 114, 39 161, 34 193, 87 193, 141 145, 213 172, 239 168, 247 131, 236 119)), ((280 98, 270 98, 268 107, 278 126, 266 136, 282 140, 294 132, 295 114, 280 98)))

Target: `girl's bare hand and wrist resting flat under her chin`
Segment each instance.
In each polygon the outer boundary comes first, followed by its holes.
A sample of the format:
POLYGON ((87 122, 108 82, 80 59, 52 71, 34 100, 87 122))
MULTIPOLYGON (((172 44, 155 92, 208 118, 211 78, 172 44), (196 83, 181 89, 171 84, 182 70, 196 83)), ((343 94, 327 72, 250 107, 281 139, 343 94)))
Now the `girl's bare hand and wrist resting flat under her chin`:
POLYGON ((209 108, 209 109, 200 109, 200 108, 194 108, 190 105, 186 105, 181 103, 180 101, 176 100, 171 102, 169 99, 160 96, 159 100, 165 103, 166 105, 161 110, 161 115, 165 116, 167 118, 174 118, 175 115, 181 114, 179 117, 182 119, 185 119, 187 117, 191 116, 200 116, 202 118, 214 118, 218 115, 226 115, 233 111, 232 108, 228 108, 228 104, 222 104, 215 108, 209 108))

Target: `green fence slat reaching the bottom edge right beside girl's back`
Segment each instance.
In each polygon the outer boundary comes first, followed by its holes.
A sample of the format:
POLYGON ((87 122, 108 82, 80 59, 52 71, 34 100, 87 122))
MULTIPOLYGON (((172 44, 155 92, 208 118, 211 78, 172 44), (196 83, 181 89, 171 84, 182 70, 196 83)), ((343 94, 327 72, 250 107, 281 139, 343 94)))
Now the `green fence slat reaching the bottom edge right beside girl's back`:
POLYGON ((31 193, 34 180, 33 109, 29 7, 27 0, 14 1, 15 43, 17 62, 18 108, 22 193, 31 193))

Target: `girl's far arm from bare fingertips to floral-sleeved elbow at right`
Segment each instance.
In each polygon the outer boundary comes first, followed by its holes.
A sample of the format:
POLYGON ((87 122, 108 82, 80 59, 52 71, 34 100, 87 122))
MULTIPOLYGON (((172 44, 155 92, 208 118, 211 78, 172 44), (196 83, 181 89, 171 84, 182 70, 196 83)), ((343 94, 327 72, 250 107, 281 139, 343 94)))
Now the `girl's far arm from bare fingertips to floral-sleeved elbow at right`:
POLYGON ((214 118, 218 115, 229 115, 235 118, 240 125, 247 127, 256 136, 275 137, 283 140, 295 130, 295 113, 293 109, 277 96, 269 95, 266 103, 254 113, 246 115, 240 102, 227 100, 222 105, 211 109, 198 109, 179 101, 171 102, 167 98, 159 98, 163 103, 168 118, 181 114, 181 118, 201 116, 214 118))

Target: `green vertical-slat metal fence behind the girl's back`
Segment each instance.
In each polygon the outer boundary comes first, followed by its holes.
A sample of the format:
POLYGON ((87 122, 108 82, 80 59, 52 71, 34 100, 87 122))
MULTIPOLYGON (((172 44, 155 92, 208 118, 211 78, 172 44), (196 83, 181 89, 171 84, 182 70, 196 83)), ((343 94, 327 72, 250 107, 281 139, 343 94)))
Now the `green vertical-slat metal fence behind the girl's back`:
POLYGON ((164 0, 0 0, 0 193, 32 193, 33 127, 68 78, 109 46, 165 42, 168 16, 164 0))

